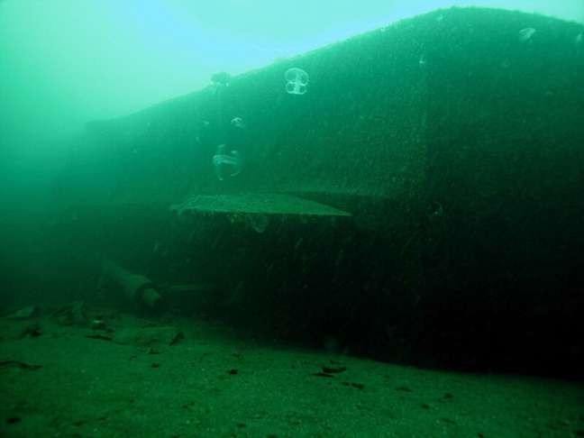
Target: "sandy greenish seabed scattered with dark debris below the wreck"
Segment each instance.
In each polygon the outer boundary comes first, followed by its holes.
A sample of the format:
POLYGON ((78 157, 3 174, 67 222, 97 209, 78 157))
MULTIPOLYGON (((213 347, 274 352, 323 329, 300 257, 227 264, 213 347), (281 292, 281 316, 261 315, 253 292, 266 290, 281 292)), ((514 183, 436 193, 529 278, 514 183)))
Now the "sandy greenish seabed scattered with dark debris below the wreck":
POLYGON ((100 313, 100 330, 0 319, 0 435, 584 436, 576 382, 420 370, 203 319, 100 313))

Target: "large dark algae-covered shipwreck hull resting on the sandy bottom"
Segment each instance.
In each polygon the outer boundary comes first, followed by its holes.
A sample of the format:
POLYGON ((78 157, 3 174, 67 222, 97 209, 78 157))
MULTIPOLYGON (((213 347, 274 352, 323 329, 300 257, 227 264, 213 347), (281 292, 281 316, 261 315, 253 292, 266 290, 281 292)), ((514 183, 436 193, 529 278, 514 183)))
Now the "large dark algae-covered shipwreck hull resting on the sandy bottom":
MULTIPOLYGON (((574 363, 582 32, 451 9, 225 76, 90 123, 60 201, 87 224, 103 218, 126 250, 150 239, 188 253, 156 260, 159 275, 172 265, 220 283, 222 306, 278 315, 286 333, 378 356, 417 346, 472 362, 491 342, 509 362, 546 351, 574 363), (290 93, 290 68, 306 72, 302 93, 290 93)), ((110 254, 132 259, 114 242, 110 254)))

